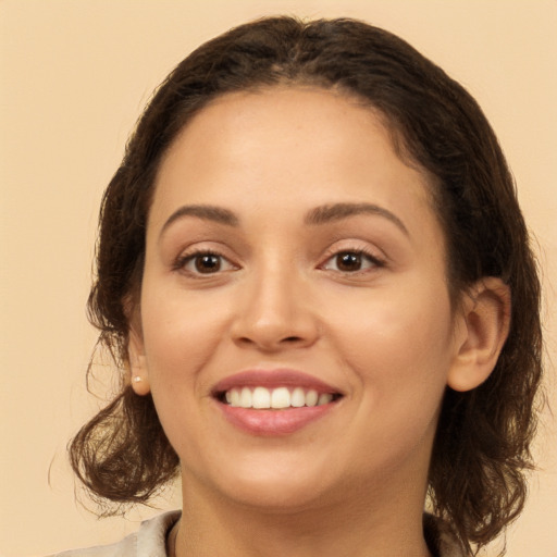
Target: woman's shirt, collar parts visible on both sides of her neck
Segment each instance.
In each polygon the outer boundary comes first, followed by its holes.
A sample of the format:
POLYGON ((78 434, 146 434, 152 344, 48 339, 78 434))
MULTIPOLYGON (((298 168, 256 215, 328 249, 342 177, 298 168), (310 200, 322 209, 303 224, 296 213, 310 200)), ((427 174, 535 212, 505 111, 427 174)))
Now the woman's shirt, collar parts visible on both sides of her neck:
MULTIPOLYGON (((71 549, 51 557, 168 557, 166 536, 180 516, 180 510, 165 512, 145 520, 137 532, 115 544, 71 549)), ((450 529, 434 517, 425 516, 424 533, 434 557, 466 557, 450 529)))

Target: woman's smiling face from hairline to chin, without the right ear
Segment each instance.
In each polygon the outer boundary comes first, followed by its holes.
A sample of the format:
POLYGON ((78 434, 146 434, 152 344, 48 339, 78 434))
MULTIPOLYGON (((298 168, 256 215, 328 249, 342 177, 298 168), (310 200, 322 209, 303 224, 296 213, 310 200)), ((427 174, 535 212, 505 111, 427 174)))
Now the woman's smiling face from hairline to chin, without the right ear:
POLYGON ((203 109, 157 177, 131 345, 185 488, 423 492, 456 352, 445 267, 425 178, 370 109, 307 88, 203 109))

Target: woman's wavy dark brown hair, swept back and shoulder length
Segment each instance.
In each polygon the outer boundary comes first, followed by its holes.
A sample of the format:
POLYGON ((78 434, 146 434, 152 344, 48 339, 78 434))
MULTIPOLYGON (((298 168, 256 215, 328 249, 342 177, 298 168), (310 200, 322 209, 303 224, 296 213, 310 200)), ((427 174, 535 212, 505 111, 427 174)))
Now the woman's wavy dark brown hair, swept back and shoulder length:
POLYGON ((269 17, 194 51, 156 92, 100 212, 88 308, 122 369, 121 394, 73 440, 74 470, 94 496, 145 502, 178 468, 150 396, 128 384, 127 309, 141 284, 146 220, 161 158, 211 99, 302 84, 356 96, 385 117, 401 157, 434 182, 455 298, 483 276, 510 287, 508 339, 478 388, 447 389, 429 478, 434 512, 462 543, 493 540, 521 511, 542 373, 540 282, 513 181, 474 99, 400 38, 354 20, 269 17))

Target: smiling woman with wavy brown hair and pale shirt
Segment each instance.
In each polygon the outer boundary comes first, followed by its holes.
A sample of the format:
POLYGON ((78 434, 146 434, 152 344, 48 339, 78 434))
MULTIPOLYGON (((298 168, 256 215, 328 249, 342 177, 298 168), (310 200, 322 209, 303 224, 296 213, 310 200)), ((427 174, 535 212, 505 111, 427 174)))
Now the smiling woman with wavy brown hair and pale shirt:
POLYGON ((116 504, 180 473, 183 510, 87 555, 461 556, 522 509, 527 228, 478 104, 399 38, 274 17, 200 47, 129 140, 97 263, 122 393, 73 467, 116 504))

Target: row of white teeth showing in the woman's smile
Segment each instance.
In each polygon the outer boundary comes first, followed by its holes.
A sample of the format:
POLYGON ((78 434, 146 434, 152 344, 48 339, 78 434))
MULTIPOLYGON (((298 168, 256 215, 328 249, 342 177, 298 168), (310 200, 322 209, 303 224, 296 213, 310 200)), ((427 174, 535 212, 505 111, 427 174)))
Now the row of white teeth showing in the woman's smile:
POLYGON ((333 400, 331 393, 319 394, 314 389, 305 391, 302 387, 296 387, 292 392, 288 387, 265 388, 257 386, 233 388, 224 395, 227 404, 240 408, 301 408, 304 406, 327 405, 333 400))

